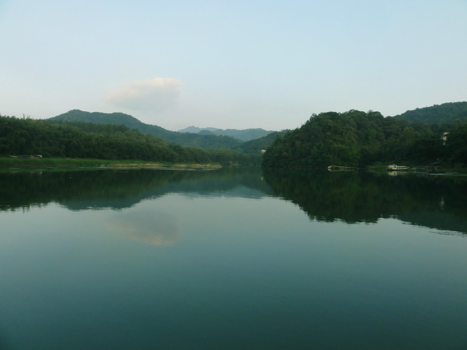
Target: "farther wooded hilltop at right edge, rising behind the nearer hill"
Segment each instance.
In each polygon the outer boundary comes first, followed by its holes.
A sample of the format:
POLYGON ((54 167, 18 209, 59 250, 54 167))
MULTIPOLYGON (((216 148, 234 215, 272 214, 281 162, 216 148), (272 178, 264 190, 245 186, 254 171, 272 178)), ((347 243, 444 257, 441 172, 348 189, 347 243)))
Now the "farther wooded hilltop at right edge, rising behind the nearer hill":
POLYGON ((448 102, 442 105, 417 108, 398 114, 394 118, 428 124, 449 124, 455 122, 456 119, 467 122, 467 102, 448 102))

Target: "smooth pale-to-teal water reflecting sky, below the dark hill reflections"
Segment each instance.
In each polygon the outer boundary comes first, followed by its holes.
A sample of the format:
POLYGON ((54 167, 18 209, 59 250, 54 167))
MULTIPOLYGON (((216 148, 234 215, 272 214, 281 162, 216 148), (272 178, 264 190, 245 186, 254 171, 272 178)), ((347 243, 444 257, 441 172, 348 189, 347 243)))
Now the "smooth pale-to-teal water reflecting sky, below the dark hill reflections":
POLYGON ((0 212, 0 331, 21 350, 462 345, 467 240, 206 193, 0 212))

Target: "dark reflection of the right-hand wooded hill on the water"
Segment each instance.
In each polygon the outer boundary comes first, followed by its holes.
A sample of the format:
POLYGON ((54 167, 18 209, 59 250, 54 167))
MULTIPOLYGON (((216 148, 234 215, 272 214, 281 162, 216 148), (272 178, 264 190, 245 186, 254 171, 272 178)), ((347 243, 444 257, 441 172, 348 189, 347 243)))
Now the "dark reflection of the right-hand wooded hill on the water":
POLYGON ((297 203, 314 220, 374 223, 397 217, 467 233, 465 178, 265 169, 264 179, 276 196, 297 203))

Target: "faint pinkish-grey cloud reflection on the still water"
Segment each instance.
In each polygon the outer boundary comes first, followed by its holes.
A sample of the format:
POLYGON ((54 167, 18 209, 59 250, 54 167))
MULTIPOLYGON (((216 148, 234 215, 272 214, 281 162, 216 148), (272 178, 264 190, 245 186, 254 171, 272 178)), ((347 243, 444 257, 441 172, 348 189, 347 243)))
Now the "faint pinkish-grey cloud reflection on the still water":
POLYGON ((153 211, 119 212, 105 222, 122 238, 150 245, 174 245, 179 241, 175 219, 153 211))

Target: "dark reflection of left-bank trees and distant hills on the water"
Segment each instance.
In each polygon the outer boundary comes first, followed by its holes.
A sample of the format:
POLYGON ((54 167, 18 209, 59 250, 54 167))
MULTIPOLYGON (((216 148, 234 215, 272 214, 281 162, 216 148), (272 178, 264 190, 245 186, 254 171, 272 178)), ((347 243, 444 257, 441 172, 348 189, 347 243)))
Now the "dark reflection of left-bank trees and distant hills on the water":
POLYGON ((0 210, 57 202, 70 210, 123 209, 167 193, 259 197, 270 193, 261 169, 161 169, 0 174, 0 210))

